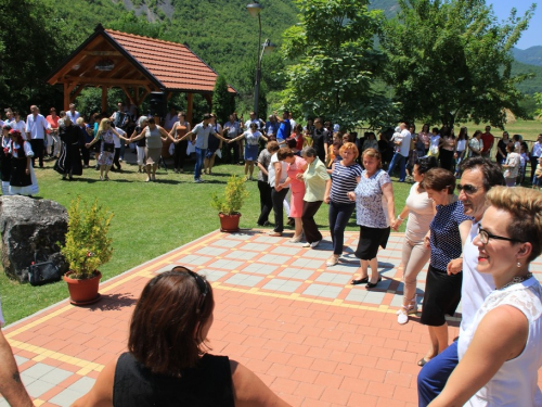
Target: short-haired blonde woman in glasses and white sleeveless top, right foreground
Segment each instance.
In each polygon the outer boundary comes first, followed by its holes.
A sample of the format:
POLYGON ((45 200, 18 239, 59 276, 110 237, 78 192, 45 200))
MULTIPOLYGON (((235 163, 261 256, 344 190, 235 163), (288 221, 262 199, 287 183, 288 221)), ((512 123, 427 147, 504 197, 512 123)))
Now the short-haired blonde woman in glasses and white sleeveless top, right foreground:
POLYGON ((540 406, 542 288, 529 265, 542 251, 542 194, 526 188, 493 187, 478 247, 480 274, 496 290, 460 336, 460 364, 430 406, 540 406))

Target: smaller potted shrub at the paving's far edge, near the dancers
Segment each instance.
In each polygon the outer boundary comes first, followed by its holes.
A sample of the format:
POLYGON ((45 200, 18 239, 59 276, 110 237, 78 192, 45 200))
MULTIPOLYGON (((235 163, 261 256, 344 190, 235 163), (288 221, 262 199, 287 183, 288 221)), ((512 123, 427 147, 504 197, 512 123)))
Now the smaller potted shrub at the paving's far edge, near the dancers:
POLYGON ((248 196, 245 180, 236 175, 228 178, 224 195, 212 194, 211 206, 218 211, 220 217, 220 231, 236 232, 241 218, 241 207, 248 196))

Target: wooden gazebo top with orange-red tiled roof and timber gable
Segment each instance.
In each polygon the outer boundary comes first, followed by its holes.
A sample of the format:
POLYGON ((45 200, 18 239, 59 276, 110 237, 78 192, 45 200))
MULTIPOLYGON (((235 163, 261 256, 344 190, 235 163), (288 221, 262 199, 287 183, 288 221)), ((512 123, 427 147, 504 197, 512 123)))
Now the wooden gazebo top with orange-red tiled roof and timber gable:
MULTIPOLYGON (((194 93, 210 104, 218 74, 182 43, 104 29, 94 33, 47 79, 64 86, 64 110, 85 87, 102 88, 102 111, 107 109, 107 90, 120 88, 138 106, 154 91, 167 100, 175 92, 186 93, 186 119, 192 120, 194 93)), ((236 93, 232 87, 230 92, 236 93)))

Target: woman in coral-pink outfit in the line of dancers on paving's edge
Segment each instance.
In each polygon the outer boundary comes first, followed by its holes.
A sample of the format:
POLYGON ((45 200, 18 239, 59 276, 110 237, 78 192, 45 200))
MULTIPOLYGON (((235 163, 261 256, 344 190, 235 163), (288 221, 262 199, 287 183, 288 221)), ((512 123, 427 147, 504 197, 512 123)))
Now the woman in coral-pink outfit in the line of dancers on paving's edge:
POLYGON ((305 183, 299 180, 297 176, 305 173, 305 169, 307 168, 307 162, 300 156, 296 155, 291 149, 279 150, 278 158, 279 161, 284 161, 287 164, 287 177, 284 182, 281 182, 279 185, 279 188, 282 189, 289 187, 289 190, 292 191, 292 198, 289 200, 289 217, 294 219, 295 232, 289 242, 299 243, 301 241, 304 230, 301 215, 304 212, 305 183))

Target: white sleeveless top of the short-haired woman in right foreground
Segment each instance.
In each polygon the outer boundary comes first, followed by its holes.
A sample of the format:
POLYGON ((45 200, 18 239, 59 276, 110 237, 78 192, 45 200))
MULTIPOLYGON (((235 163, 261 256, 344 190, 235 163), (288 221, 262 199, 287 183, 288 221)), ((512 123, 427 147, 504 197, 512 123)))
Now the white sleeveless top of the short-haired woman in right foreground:
POLYGON ((542 366, 542 287, 534 277, 489 294, 473 323, 462 332, 457 356, 461 361, 486 314, 502 305, 511 305, 526 316, 529 322, 527 343, 524 352, 505 361, 465 406, 542 406, 542 394, 537 384, 538 369, 542 366))

